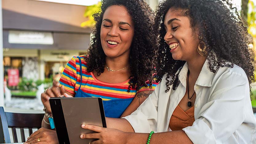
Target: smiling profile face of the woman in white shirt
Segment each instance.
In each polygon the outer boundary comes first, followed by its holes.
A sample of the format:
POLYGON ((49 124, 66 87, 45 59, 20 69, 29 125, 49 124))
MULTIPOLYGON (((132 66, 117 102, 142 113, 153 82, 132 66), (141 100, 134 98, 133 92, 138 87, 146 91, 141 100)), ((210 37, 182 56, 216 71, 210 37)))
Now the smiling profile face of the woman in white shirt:
POLYGON ((196 56, 199 36, 190 25, 190 19, 182 16, 182 10, 170 8, 164 18, 166 34, 164 40, 170 47, 174 60, 191 60, 196 56))

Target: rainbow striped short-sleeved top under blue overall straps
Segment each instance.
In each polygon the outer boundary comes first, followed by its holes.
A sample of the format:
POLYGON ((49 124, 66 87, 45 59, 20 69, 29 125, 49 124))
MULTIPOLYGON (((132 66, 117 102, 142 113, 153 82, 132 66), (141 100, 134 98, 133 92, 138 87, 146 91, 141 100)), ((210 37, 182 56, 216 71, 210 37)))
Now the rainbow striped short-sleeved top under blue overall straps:
MULTIPOLYGON (((138 91, 136 89, 128 92, 129 80, 110 84, 97 80, 93 72, 87 72, 87 63, 84 60, 85 55, 79 56, 82 63, 82 83, 81 90, 91 97, 101 97, 103 101, 114 99, 130 99, 134 98, 136 93, 140 91, 154 91, 158 83, 153 83, 152 88, 142 86, 138 91)), ((77 56, 73 56, 65 66, 61 75, 60 85, 63 85, 65 90, 75 95, 80 87, 80 64, 77 56)))

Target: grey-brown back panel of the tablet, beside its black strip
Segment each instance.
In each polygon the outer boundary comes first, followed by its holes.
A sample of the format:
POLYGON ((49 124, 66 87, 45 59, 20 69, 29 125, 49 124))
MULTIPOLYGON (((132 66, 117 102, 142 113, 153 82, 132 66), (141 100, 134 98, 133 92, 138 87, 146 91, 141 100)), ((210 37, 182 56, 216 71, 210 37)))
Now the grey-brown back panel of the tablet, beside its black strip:
MULTIPOLYGON (((80 135, 86 133, 95 133, 92 130, 83 129, 81 127, 82 124, 103 127, 98 98, 62 98, 61 105, 69 142, 71 144, 85 144, 96 140, 81 139, 80 135)), ((57 127, 56 130, 58 133, 57 127)))

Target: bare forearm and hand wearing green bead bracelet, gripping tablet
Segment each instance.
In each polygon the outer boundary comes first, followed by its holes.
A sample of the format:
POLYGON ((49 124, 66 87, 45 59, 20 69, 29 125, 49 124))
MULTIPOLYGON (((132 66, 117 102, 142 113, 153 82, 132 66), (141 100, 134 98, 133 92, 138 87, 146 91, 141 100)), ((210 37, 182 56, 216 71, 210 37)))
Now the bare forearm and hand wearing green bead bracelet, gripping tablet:
MULTIPOLYGON (((134 133, 124 132, 120 127, 127 127, 126 130, 131 130, 127 123, 120 119, 116 119, 116 126, 119 130, 113 128, 102 128, 100 126, 82 125, 82 128, 96 131, 98 133, 82 134, 80 138, 98 138, 98 140, 91 142, 91 144, 98 143, 126 143, 126 144, 141 144, 147 143, 149 133, 134 133)), ((151 144, 168 143, 168 144, 193 144, 183 130, 161 132, 152 134, 150 139, 151 144)))

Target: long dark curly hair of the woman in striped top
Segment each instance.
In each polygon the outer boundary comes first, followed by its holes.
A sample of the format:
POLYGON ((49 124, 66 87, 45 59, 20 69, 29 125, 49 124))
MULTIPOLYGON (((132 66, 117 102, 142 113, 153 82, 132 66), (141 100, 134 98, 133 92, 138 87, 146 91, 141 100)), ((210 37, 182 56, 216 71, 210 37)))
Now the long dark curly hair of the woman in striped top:
POLYGON ((130 70, 129 88, 136 88, 146 85, 149 80, 152 87, 152 75, 156 64, 156 37, 153 33, 154 13, 146 2, 143 0, 102 0, 101 10, 93 14, 96 24, 93 28, 93 37, 88 49, 88 56, 85 57, 87 62, 87 71, 95 70, 99 76, 104 72, 106 55, 100 42, 100 28, 103 14, 109 6, 125 6, 132 17, 134 23, 134 37, 130 48, 130 70), (138 87, 137 87, 138 85, 138 87))

